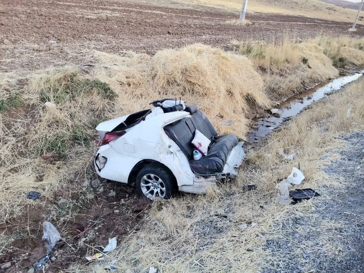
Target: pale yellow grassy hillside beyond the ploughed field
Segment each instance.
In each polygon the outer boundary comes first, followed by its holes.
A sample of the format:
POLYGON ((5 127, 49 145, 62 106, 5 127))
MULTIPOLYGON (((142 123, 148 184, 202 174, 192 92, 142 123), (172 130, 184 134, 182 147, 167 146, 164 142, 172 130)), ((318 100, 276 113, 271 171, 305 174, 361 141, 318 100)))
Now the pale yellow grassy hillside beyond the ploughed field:
MULTIPOLYGON (((240 0, 184 0, 188 3, 241 10, 240 0)), ((248 12, 280 13, 306 17, 352 22, 356 11, 337 7, 319 0, 249 0, 248 12)), ((361 23, 360 21, 358 22, 361 23)))

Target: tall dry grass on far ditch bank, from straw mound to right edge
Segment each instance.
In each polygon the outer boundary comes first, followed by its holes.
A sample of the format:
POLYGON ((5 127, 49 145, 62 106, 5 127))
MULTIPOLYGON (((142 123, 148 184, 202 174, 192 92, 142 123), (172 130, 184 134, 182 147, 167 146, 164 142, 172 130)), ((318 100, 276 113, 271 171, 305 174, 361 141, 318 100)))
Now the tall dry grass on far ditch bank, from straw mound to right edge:
POLYGON ((362 39, 320 35, 303 42, 288 37, 270 43, 242 42, 239 52, 260 72, 266 93, 282 99, 337 77, 337 68, 364 64, 363 45, 362 39))

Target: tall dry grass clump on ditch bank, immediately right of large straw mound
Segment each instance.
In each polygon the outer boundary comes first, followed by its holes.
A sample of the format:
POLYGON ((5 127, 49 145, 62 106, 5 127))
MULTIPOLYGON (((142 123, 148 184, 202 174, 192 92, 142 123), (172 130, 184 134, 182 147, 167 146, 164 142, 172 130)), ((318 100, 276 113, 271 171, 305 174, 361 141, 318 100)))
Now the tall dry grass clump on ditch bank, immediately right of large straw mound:
POLYGON ((288 97, 304 86, 335 78, 339 72, 320 47, 287 37, 268 44, 243 43, 240 53, 252 60, 274 99, 288 97))

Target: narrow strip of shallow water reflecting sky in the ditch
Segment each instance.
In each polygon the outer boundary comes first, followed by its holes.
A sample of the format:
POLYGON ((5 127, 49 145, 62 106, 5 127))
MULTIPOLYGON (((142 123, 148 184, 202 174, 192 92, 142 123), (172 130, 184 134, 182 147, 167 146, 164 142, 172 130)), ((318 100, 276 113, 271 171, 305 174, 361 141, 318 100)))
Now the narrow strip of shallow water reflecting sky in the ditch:
POLYGON ((351 74, 347 76, 334 79, 326 84, 319 84, 302 94, 297 94, 286 99, 279 106, 275 107, 278 110, 277 114, 270 114, 258 121, 256 124, 258 128, 251 130, 249 133, 249 141, 259 141, 262 137, 277 128, 282 122, 289 119, 291 116, 297 115, 306 106, 309 106, 313 102, 340 90, 345 84, 359 79, 363 75, 364 70, 357 73, 353 73, 353 70, 350 72, 351 74))

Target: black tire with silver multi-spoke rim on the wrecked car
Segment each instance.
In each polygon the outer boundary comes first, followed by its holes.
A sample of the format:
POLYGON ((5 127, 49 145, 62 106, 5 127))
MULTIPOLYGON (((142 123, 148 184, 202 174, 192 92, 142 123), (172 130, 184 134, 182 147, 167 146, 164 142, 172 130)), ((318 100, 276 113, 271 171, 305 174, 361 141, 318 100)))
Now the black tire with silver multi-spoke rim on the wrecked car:
POLYGON ((172 172, 154 163, 144 166, 139 171, 135 185, 141 197, 150 199, 170 199, 177 193, 177 182, 172 172))

